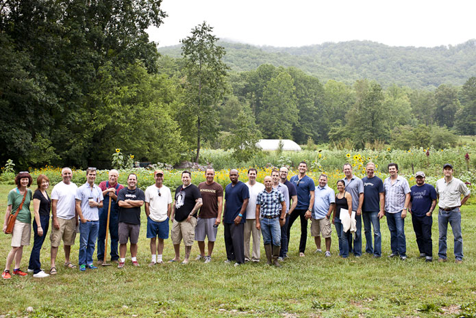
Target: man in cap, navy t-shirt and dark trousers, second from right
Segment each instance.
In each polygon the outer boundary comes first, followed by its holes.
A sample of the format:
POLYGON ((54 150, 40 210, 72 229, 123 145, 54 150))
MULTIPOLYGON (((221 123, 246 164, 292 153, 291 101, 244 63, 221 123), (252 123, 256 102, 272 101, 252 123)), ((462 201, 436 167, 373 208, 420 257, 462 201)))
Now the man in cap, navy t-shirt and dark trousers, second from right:
POLYGON ((436 190, 433 185, 425 183, 425 172, 415 174, 416 185, 410 188, 410 204, 408 211, 412 214, 413 230, 416 235, 416 244, 420 250, 420 257, 425 261, 433 260, 431 249, 431 213, 436 207, 436 190))

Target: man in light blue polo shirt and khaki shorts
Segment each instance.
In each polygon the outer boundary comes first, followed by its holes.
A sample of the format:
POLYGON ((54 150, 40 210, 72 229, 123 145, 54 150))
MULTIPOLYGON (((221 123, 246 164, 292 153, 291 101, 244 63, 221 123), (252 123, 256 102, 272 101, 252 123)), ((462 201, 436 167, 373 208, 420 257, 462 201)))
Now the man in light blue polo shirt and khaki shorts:
POLYGON ((316 242, 316 252, 321 250, 321 234, 325 239, 325 256, 331 256, 331 213, 336 204, 334 190, 327 186, 327 176, 319 176, 319 185, 314 191, 314 207, 312 207, 311 235, 316 242))

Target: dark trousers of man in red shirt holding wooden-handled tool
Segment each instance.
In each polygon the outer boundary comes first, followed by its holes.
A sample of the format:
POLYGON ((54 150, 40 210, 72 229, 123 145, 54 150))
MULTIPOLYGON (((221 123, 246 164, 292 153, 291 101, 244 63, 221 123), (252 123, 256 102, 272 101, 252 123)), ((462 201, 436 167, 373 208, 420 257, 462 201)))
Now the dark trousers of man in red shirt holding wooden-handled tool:
MULTIPOLYGON (((108 205, 108 204, 104 204, 104 205, 108 205)), ((119 218, 118 211, 112 211, 111 209, 111 215, 109 217, 109 233, 111 235, 111 239, 109 241, 111 246, 111 253, 110 253, 111 261, 116 261, 119 259, 119 255, 117 254, 117 243, 119 240, 118 218, 119 218)), ((104 259, 105 236, 108 235, 108 233, 105 233, 106 226, 108 226, 108 208, 103 207, 102 209, 99 209, 99 232, 97 235, 97 260, 98 261, 103 261, 104 259)))

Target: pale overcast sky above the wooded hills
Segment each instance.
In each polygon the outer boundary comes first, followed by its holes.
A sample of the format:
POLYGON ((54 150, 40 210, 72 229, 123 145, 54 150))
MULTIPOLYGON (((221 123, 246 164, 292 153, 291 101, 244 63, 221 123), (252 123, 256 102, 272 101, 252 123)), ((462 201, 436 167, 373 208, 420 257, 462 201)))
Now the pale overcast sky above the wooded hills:
POLYGON ((349 40, 436 47, 476 38, 474 0, 163 0, 162 9, 164 24, 148 30, 160 47, 179 44, 203 21, 218 38, 275 47, 349 40))

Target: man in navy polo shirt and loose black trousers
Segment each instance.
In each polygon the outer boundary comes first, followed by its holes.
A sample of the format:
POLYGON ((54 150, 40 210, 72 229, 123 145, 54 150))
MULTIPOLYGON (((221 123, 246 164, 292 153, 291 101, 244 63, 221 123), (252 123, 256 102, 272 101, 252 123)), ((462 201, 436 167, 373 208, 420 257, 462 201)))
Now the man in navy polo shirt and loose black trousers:
POLYGON ((245 183, 238 181, 238 170, 229 171, 231 183, 225 187, 225 248, 227 261, 236 261, 235 266, 245 263, 245 227, 249 190, 245 183))

